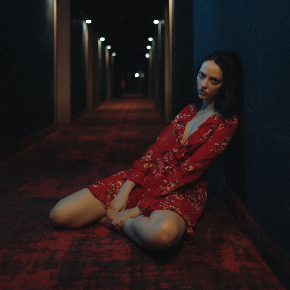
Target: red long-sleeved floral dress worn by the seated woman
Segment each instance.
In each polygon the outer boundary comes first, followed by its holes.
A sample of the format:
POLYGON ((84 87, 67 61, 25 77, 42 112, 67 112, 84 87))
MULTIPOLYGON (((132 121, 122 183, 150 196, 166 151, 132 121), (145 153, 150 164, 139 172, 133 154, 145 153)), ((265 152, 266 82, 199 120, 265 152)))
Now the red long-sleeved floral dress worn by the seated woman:
POLYGON ((219 113, 209 117, 182 144, 185 125, 196 115, 193 104, 186 106, 151 145, 133 169, 118 172, 88 186, 106 207, 125 180, 137 183, 127 208, 136 205, 149 216, 154 210, 169 209, 180 214, 193 235, 206 203, 206 171, 231 141, 238 126, 233 116, 219 113))

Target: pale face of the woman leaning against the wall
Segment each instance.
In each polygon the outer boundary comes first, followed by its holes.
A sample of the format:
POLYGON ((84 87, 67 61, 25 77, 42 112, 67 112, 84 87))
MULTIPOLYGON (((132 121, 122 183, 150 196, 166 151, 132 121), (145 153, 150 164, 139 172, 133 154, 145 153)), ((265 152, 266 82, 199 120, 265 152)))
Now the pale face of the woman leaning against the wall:
POLYGON ((197 75, 199 98, 213 102, 222 86, 223 74, 220 67, 213 60, 204 61, 197 75))

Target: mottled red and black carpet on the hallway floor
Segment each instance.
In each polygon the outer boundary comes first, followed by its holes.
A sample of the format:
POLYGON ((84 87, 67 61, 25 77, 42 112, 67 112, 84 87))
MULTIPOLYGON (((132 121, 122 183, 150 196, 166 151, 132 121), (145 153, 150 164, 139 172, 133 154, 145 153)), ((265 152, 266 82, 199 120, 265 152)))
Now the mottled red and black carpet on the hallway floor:
POLYGON ((130 168, 165 126, 146 98, 118 99, 2 162, 0 289, 285 290, 214 195, 195 240, 158 255, 97 224, 50 224, 61 197, 130 168))

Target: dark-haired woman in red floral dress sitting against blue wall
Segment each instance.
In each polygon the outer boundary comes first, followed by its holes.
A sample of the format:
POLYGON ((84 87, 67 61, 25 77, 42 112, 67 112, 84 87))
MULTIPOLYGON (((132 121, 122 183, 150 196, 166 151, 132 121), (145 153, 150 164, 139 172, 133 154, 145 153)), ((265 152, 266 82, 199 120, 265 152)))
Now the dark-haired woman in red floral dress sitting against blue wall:
POLYGON ((241 95, 238 55, 213 52, 197 70, 199 106, 189 104, 133 169, 116 173, 60 200, 50 212, 59 227, 92 222, 124 233, 141 247, 174 247, 206 203, 206 171, 226 149, 238 126, 241 95))

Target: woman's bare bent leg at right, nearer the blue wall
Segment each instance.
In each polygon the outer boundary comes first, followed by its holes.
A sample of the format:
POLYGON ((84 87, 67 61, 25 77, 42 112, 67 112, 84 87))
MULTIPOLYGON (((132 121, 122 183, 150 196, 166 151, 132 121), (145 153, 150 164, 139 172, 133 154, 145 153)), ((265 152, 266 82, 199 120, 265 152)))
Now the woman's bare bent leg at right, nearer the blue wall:
POLYGON ((124 222, 123 232, 140 246, 165 250, 180 242, 186 232, 185 220, 170 210, 153 211, 148 217, 140 215, 124 222))

